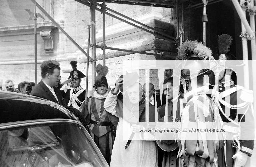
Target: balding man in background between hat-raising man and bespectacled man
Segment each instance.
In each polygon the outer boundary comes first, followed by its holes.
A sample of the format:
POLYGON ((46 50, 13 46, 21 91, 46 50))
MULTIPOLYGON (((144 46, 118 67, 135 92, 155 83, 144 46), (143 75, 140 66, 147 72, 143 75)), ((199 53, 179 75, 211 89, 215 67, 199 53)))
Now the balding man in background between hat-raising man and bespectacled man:
MULTIPOLYGON (((149 96, 149 102, 150 104, 152 105, 155 105, 157 107, 161 107, 161 100, 160 100, 160 95, 156 95, 154 92, 155 92, 155 88, 154 88, 154 85, 152 83, 148 83, 149 84, 149 92, 148 92, 148 96, 149 96)), ((143 85, 143 92, 144 92, 144 95, 145 97, 147 98, 146 94, 146 83, 144 83, 143 85)))

